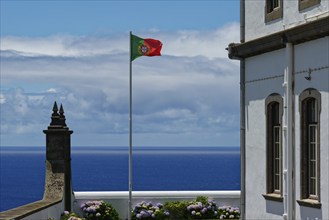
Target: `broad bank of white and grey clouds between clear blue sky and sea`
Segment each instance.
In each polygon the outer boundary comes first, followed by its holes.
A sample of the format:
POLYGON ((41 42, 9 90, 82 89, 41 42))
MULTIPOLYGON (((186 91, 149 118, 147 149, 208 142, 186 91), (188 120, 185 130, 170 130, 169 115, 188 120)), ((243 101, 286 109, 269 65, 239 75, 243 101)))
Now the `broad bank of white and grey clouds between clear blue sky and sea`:
MULTIPOLYGON (((238 145, 239 68, 225 51, 237 41, 238 25, 207 32, 157 31, 151 37, 163 41, 163 56, 133 62, 133 125, 138 137, 158 138, 138 138, 138 144, 173 144, 170 134, 178 145, 184 138, 186 144, 238 145)), ((129 129, 127 36, 1 41, 1 84, 7 88, 0 97, 1 135, 42 135, 56 100, 64 105, 77 145, 128 143, 122 135, 129 129)))

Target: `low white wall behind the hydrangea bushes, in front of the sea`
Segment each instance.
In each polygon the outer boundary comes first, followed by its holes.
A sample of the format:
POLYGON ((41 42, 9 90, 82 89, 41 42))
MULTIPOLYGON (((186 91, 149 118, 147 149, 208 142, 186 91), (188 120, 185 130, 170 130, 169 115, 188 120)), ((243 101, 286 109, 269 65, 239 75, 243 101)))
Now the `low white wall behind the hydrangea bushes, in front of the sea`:
MULTIPOLYGON (((216 201, 218 206, 240 207, 240 191, 134 191, 133 207, 141 202, 165 203, 169 201, 191 201, 197 196, 207 196, 216 201)), ((128 191, 117 192, 74 192, 73 211, 82 215, 80 206, 86 201, 104 200, 112 204, 120 217, 128 216, 128 191)))

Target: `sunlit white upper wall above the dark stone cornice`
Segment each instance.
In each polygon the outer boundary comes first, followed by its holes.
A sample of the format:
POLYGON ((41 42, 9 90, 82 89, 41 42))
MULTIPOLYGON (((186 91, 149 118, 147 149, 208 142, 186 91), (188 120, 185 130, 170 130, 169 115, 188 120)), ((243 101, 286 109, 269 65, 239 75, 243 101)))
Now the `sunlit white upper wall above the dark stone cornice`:
POLYGON ((283 18, 265 23, 265 2, 246 0, 246 41, 312 21, 317 16, 328 16, 329 11, 328 0, 322 0, 319 5, 303 11, 298 10, 298 0, 284 0, 283 18))

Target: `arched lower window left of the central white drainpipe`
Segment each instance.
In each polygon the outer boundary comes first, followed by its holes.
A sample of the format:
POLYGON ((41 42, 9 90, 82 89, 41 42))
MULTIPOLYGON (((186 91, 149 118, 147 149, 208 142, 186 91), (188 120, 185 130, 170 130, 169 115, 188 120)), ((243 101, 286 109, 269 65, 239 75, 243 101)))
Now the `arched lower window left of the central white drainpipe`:
POLYGON ((282 201, 282 97, 272 94, 266 108, 266 195, 267 199, 282 201))

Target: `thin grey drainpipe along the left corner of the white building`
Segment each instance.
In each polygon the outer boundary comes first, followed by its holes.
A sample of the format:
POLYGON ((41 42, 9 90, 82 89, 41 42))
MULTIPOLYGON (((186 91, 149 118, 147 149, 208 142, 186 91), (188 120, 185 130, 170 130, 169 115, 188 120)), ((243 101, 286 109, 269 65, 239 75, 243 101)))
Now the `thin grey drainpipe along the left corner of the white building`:
MULTIPOLYGON (((240 0, 240 41, 245 42, 245 0, 240 0)), ((246 219, 245 59, 240 59, 240 169, 241 219, 246 219)))

